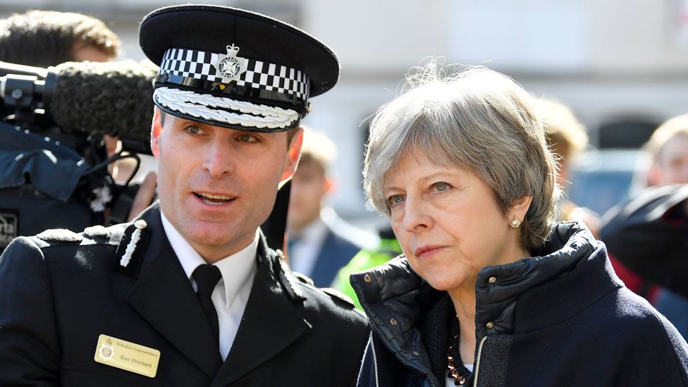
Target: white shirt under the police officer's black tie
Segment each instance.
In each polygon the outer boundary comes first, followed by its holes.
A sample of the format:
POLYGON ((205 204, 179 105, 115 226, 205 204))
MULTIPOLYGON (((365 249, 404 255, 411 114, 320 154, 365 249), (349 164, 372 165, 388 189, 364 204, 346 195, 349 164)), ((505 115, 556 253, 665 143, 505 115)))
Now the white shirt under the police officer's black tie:
MULTIPOLYGON (((197 290, 196 282, 191 276, 193 271, 206 262, 194 250, 182 235, 172 226, 162 214, 162 225, 167 234, 167 239, 170 241, 172 250, 179 259, 180 264, 184 268, 186 276, 191 281, 194 290, 197 290)), ((241 317, 246 309, 248 296, 253 287, 253 279, 256 276, 257 263, 256 254, 258 251, 258 237, 259 233, 256 230, 256 235, 247 247, 235 254, 225 257, 214 265, 220 269, 222 278, 215 285, 211 300, 215 305, 217 311, 217 319, 220 328, 220 355, 222 360, 227 358, 229 350, 232 348, 234 338, 239 329, 241 317)))

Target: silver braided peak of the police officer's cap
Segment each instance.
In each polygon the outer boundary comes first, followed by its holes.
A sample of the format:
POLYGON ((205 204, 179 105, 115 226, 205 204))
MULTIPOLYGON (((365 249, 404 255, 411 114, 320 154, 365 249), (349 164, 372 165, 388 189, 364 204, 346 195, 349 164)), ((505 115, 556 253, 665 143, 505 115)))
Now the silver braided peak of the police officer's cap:
POLYGON ((157 88, 153 92, 153 99, 168 109, 190 116, 254 128, 288 128, 300 118, 299 113, 291 109, 257 105, 170 87, 157 88), (240 111, 242 114, 211 107, 240 111))

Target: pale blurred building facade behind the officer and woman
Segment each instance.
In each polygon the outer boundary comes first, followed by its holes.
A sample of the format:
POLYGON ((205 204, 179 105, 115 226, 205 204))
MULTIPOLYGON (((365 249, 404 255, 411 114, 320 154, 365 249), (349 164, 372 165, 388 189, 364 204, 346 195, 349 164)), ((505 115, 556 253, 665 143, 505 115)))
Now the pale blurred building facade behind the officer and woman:
MULTIPOLYGON (((340 148, 333 205, 353 221, 382 221, 362 193, 367 118, 398 93, 408 68, 429 56, 482 64, 569 104, 593 145, 637 147, 644 130, 688 111, 688 0, 203 2, 287 20, 336 51, 340 82, 312 101, 305 123, 340 148)), ((123 39, 123 59, 142 60, 137 25, 168 4, 0 0, 0 16, 31 8, 88 13, 123 39)))

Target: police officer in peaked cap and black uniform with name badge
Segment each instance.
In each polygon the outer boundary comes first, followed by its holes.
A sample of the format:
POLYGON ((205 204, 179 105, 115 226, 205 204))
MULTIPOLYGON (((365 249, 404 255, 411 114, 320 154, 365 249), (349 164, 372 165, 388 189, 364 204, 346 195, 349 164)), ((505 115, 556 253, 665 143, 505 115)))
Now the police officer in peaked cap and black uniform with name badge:
POLYGON ((0 385, 350 386, 367 321, 295 276, 259 225, 336 56, 221 6, 140 25, 160 63, 159 202, 132 223, 17 238, 0 259, 0 385))

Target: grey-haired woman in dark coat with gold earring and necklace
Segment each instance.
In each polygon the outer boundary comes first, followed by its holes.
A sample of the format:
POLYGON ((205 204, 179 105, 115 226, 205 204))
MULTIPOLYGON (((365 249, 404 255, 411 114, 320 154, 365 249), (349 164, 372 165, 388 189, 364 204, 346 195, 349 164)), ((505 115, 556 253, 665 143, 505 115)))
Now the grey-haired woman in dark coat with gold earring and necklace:
POLYGON ((351 282, 373 331, 358 386, 688 386, 688 345, 582 223, 554 223, 529 95, 436 63, 370 126, 364 186, 404 254, 351 282))

